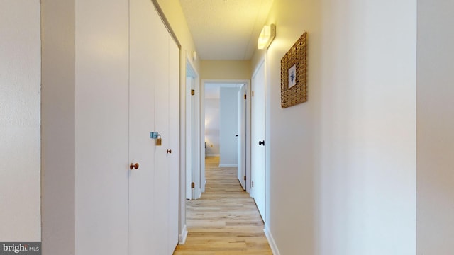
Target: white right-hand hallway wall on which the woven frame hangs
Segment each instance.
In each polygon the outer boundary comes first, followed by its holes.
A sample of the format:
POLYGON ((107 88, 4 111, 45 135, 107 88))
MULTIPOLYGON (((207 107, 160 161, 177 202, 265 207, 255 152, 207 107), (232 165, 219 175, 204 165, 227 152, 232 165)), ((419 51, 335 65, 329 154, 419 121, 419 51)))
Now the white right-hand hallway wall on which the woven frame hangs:
POLYGON ((416 2, 271 10, 265 227, 278 252, 415 254, 416 2), (280 60, 305 30, 309 99, 282 109, 280 60))

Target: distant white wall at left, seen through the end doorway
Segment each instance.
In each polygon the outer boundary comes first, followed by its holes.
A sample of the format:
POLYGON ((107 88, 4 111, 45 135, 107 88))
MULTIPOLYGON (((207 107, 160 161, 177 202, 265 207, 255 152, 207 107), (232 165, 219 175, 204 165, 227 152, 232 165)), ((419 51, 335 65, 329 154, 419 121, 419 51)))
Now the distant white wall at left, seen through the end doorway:
POLYGON ((220 100, 205 98, 205 142, 206 156, 219 156, 220 100))

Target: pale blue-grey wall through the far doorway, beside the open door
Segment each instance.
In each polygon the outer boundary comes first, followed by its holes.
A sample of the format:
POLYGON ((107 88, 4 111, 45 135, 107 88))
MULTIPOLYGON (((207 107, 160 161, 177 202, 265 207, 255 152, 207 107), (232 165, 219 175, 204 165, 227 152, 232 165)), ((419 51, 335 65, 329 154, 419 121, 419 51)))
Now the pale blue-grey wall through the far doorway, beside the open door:
POLYGON ((221 88, 219 132, 219 166, 236 167, 238 164, 238 88, 221 88))

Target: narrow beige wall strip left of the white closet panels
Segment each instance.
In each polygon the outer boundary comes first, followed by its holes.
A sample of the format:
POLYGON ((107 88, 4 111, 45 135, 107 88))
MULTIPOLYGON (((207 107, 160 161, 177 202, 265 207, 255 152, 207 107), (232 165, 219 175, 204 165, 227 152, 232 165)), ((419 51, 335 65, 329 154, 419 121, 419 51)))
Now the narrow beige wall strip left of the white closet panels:
POLYGON ((74 0, 41 1, 43 254, 75 254, 74 14, 74 0))

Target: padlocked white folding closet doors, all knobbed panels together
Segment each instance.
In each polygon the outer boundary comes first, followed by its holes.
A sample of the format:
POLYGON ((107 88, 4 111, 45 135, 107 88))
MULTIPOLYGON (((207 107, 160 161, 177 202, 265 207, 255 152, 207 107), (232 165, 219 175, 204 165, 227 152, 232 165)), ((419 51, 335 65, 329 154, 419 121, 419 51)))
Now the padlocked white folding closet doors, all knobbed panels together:
POLYGON ((128 249, 166 255, 178 242, 179 49, 152 2, 131 0, 130 11, 129 154, 139 167, 129 176, 128 249))

